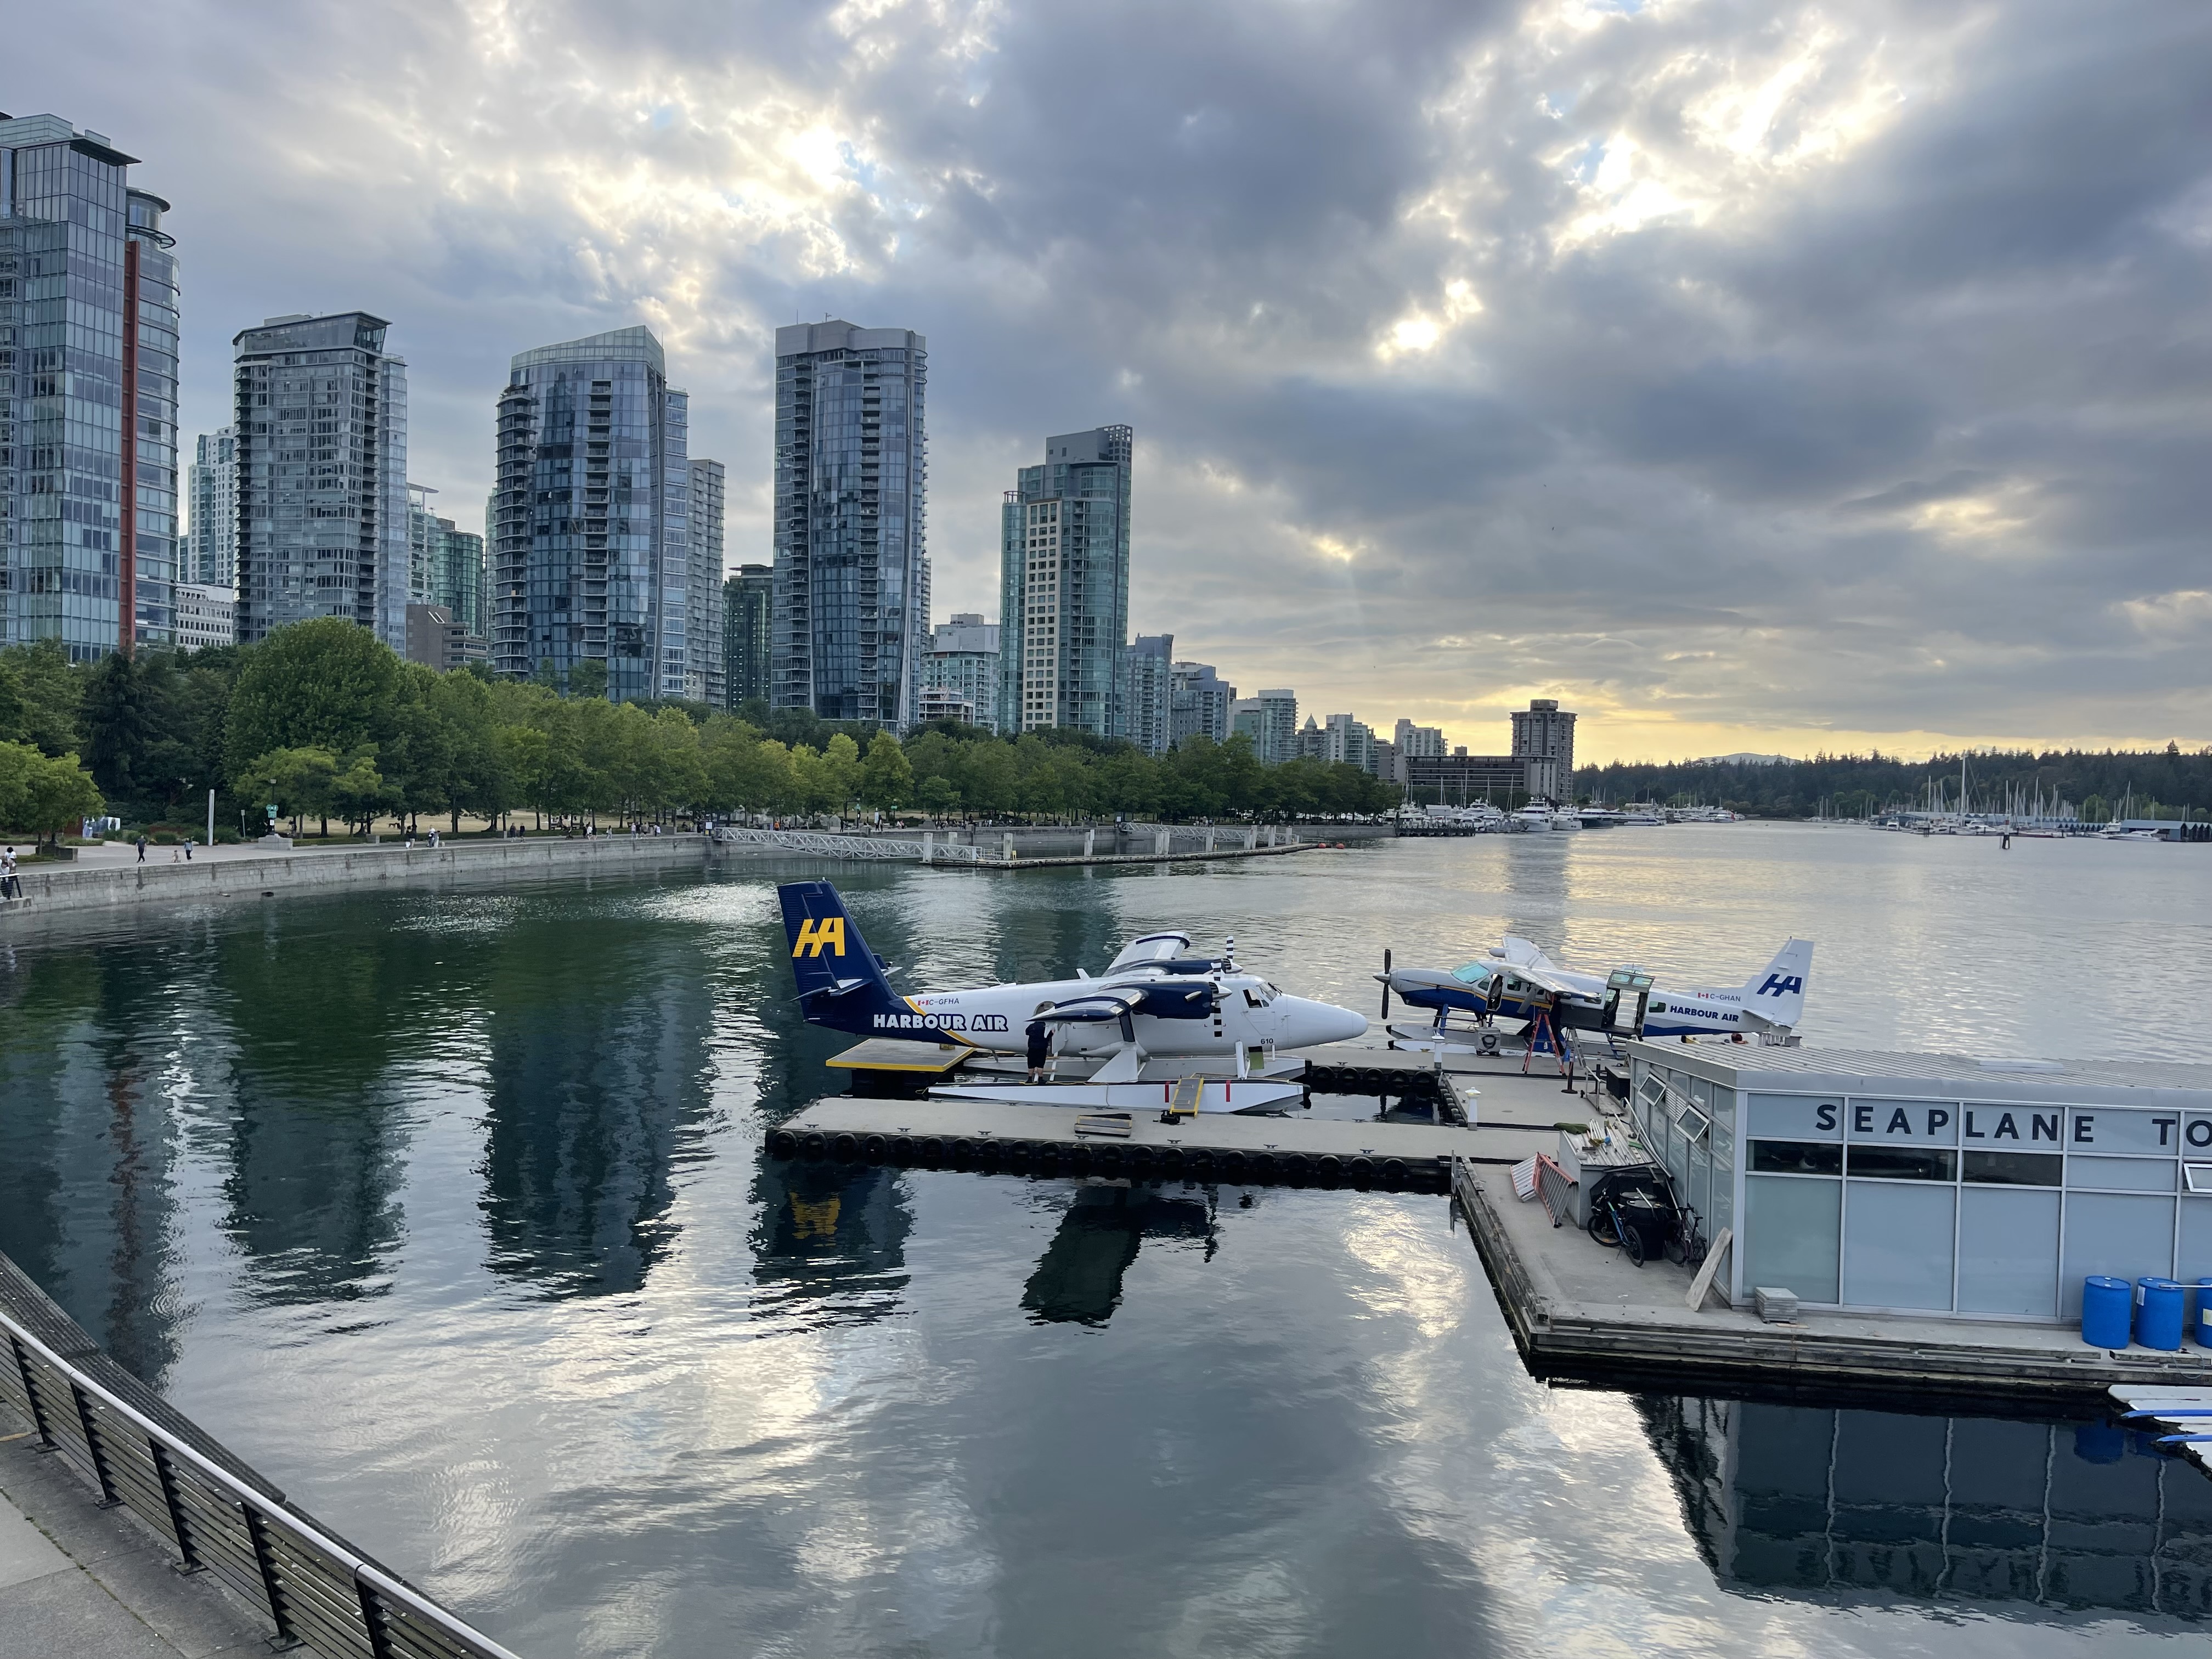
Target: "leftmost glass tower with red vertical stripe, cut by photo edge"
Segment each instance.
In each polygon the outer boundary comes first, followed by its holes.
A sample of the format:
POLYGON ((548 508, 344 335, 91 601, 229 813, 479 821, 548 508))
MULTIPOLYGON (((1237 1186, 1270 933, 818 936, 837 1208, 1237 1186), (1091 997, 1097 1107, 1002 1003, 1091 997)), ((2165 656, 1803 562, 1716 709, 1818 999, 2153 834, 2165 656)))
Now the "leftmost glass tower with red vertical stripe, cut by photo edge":
POLYGON ((0 115, 0 641, 170 644, 177 259, 135 157, 0 115))

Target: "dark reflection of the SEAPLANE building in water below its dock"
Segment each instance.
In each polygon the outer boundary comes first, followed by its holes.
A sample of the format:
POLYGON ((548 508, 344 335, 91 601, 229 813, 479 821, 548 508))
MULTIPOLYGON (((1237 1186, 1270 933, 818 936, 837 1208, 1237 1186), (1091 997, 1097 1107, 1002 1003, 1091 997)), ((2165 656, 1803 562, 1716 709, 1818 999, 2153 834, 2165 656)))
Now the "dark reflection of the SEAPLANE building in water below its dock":
POLYGON ((2212 1613, 2212 1480, 2104 1425, 1639 1396, 1723 1588, 2212 1613))

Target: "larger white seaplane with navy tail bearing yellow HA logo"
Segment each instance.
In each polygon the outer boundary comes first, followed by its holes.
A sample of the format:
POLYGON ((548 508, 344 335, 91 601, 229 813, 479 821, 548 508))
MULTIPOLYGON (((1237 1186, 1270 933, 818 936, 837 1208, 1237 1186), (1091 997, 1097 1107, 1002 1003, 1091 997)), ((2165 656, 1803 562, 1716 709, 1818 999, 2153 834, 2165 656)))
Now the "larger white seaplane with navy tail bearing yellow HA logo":
POLYGON ((1276 1055, 1367 1033, 1365 1015, 1239 969, 1237 940, 1197 956, 1190 933, 1130 940, 1099 975, 900 995, 834 885, 792 880, 776 896, 807 1024, 978 1055, 1033 1053, 1042 1026, 1051 1082, 953 1077, 929 1091, 947 1099, 1270 1113, 1305 1093, 1298 1077, 1270 1075, 1303 1071, 1276 1055))

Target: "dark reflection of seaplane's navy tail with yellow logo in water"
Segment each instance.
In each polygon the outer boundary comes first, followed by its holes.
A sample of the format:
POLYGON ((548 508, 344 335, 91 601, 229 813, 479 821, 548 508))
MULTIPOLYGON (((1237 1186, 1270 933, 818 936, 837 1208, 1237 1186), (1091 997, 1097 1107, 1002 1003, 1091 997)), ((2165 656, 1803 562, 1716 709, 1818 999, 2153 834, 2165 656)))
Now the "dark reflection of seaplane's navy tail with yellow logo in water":
POLYGON ((752 1276, 794 1298, 834 1301, 838 1318, 872 1321, 907 1287, 907 1210, 898 1170, 874 1164, 763 1159, 752 1276))

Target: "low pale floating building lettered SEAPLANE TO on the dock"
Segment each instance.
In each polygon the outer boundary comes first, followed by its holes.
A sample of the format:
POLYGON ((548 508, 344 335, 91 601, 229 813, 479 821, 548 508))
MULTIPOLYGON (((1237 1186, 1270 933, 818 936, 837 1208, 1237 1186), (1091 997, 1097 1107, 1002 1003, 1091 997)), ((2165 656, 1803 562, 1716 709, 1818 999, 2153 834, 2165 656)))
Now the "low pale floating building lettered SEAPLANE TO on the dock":
POLYGON ((2090 1274, 2212 1274, 2212 1066, 1635 1042, 1630 1113, 1739 1307, 2075 1323, 2090 1274))

